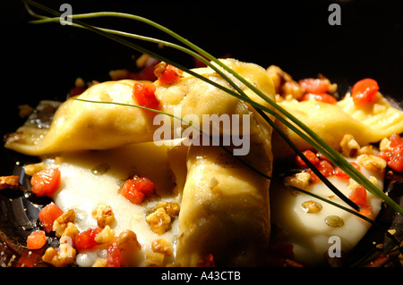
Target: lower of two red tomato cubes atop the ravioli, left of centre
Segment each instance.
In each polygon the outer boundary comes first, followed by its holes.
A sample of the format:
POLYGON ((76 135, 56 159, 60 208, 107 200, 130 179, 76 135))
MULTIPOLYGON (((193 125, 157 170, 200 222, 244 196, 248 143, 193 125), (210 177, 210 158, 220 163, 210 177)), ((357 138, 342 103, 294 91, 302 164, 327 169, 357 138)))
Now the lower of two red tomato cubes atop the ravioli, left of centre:
MULTIPOLYGON (((142 107, 159 110, 159 99, 155 96, 156 87, 151 82, 136 82, 133 86, 133 98, 142 107)), ((154 113, 144 110, 147 113, 154 113)))

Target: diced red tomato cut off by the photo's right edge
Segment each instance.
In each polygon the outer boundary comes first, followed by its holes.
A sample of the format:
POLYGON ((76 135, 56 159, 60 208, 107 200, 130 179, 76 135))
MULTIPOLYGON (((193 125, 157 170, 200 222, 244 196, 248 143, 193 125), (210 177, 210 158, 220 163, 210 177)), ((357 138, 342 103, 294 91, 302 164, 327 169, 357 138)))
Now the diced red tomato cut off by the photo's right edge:
POLYGON ((389 138, 390 147, 378 153, 388 166, 397 172, 403 172, 403 138, 399 134, 393 134, 389 138))

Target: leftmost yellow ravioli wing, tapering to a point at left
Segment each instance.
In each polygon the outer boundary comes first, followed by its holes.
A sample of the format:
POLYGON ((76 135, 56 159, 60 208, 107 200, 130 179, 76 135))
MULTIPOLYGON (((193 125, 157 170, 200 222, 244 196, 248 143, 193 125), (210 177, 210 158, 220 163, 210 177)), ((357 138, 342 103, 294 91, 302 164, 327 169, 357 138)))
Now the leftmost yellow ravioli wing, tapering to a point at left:
MULTIPOLYGON (((96 84, 79 96, 100 102, 134 104, 133 80, 96 84)), ((25 155, 107 149, 152 140, 151 118, 139 108, 67 100, 57 109, 48 130, 22 126, 18 140, 5 147, 25 155), (28 130, 27 130, 28 129, 28 130)))

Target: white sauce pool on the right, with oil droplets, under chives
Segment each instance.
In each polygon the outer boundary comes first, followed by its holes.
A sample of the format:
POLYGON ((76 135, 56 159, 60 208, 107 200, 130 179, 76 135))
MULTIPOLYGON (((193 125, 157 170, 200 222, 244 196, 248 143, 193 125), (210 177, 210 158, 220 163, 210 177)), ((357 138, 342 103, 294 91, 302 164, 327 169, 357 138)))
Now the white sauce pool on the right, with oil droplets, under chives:
MULTIPOLYGON (((383 189, 383 173, 368 172, 363 165, 361 165, 361 172, 367 178, 376 177, 377 186, 383 189)), ((347 189, 348 180, 341 180, 336 176, 331 176, 328 179, 347 197, 351 193, 352 190, 347 189)), ((339 197, 335 196, 322 181, 310 185, 306 190, 325 198, 331 197, 331 201, 349 207, 339 197)), ((367 194, 368 205, 372 208, 368 217, 375 219, 381 209, 382 201, 368 191, 367 194)), ((335 245, 335 240, 330 239, 330 237, 339 239, 341 251, 347 253, 356 246, 371 226, 369 222, 365 222, 337 206, 284 186, 274 185, 274 183, 270 187, 270 206, 271 221, 286 231, 287 242, 294 245, 296 260, 309 264, 322 264, 325 261, 324 255, 329 253, 329 249, 335 253, 336 247, 332 247, 335 245), (322 205, 322 210, 314 214, 305 213, 301 205, 310 200, 319 202, 322 205), (344 225, 339 228, 330 227, 324 222, 324 219, 329 215, 339 216, 344 225)))

